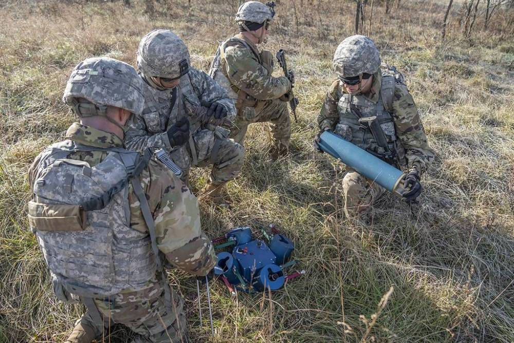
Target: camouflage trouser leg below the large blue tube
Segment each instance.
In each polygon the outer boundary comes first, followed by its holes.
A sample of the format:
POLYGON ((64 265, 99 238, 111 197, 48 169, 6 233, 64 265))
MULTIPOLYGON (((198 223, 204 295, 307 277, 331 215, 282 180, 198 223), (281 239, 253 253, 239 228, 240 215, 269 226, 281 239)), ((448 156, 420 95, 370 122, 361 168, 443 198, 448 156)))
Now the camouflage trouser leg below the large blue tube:
POLYGON ((343 178, 344 214, 351 220, 368 220, 372 205, 386 189, 350 169, 343 178))

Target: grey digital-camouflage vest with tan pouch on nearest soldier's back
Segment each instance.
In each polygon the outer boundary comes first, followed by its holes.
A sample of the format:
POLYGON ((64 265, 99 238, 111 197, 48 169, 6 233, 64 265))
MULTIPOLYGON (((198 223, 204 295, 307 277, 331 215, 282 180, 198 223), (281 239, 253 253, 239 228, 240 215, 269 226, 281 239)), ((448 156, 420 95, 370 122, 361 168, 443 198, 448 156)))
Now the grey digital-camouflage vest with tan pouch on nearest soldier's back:
POLYGON ((149 223, 148 215, 144 218, 150 235, 130 227, 127 185, 133 181, 144 202, 141 209, 148 206, 137 176, 148 164, 150 150, 140 157, 122 148, 66 140, 42 154, 29 202, 29 224, 51 272, 68 292, 85 298, 144 288, 162 266, 156 258, 153 219, 149 223), (67 158, 74 151, 97 150, 108 155, 93 167, 67 158))

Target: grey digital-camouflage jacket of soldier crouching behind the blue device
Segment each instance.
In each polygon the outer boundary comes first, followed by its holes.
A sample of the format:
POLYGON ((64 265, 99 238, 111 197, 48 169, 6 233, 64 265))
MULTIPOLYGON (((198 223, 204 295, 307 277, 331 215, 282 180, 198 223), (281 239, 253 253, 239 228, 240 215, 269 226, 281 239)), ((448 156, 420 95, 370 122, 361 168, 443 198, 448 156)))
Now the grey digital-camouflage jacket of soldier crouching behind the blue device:
MULTIPOLYGON (((144 89, 143 113, 133 116, 129 123, 130 130, 125 135, 124 143, 128 149, 142 151, 147 147, 155 147, 170 150, 168 127, 184 116, 190 119, 191 135, 194 138, 204 129, 194 111, 198 106, 209 107, 211 103, 218 102, 227 109, 227 119, 235 118, 234 103, 225 89, 203 71, 189 68, 189 72, 180 78, 180 84, 173 89, 158 90, 150 85, 147 86, 144 89), (179 97, 174 96, 177 93, 179 97)), ((205 140, 206 138, 201 138, 201 141, 205 140)), ((187 154, 185 147, 182 146, 182 148, 182 154, 187 154)), ((177 149, 180 150, 180 148, 177 149)), ((180 167, 186 167, 184 163, 176 161, 173 155, 172 158, 180 167)), ((188 158, 182 158, 188 160, 188 158)))

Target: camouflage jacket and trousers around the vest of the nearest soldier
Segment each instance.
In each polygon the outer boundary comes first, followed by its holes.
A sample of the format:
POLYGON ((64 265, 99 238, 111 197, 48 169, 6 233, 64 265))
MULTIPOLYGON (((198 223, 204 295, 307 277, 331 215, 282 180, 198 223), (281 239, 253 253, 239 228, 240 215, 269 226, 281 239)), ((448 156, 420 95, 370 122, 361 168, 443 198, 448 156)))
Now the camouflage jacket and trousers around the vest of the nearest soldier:
MULTIPOLYGON (((69 127, 66 139, 102 149, 123 146, 116 135, 78 123, 69 127)), ((105 150, 77 151, 67 158, 95 166, 107 154, 105 150)), ((30 184, 35 181, 40 157, 30 167, 30 184)), ((154 160, 149 162, 139 179, 154 214, 159 250, 176 268, 195 275, 205 275, 214 267, 216 256, 210 240, 200 230, 198 203, 194 195, 168 168, 154 160)), ((128 202, 131 208, 131 227, 145 233, 148 228, 132 186, 129 186, 128 202)), ((95 299, 95 303, 104 318, 126 325, 134 332, 148 337, 149 341, 169 342, 169 337, 172 341, 180 341, 186 328, 183 300, 173 289, 171 292, 175 307, 173 313, 164 306, 163 285, 155 278, 148 280, 142 289, 127 289, 105 299, 95 299), (166 327, 163 323, 166 323, 166 327)), ((94 327, 97 335, 102 334, 102 326, 94 323, 89 312, 82 318, 82 322, 94 327)))

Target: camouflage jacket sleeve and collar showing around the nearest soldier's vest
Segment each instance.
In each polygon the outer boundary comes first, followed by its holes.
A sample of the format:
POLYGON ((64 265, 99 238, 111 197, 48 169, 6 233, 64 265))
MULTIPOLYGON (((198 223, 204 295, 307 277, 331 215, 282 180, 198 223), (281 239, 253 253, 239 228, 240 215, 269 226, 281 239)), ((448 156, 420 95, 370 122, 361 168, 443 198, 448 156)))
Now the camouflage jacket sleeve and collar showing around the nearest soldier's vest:
MULTIPOLYGON (((99 148, 123 146, 118 136, 78 123, 68 128, 66 138, 99 148)), ((95 166, 107 154, 108 151, 105 150, 76 151, 67 158, 95 166)), ((40 158, 41 155, 29 169, 31 186, 38 172, 40 158)), ((216 263, 216 255, 211 241, 200 230, 200 215, 195 196, 166 166, 155 160, 150 160, 139 179, 153 213, 158 249, 176 268, 195 275, 207 274, 216 263)), ((132 185, 128 187, 131 227, 146 233, 148 227, 143 219, 139 200, 132 185)))

